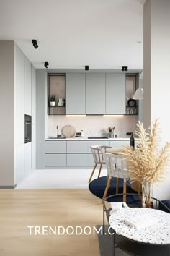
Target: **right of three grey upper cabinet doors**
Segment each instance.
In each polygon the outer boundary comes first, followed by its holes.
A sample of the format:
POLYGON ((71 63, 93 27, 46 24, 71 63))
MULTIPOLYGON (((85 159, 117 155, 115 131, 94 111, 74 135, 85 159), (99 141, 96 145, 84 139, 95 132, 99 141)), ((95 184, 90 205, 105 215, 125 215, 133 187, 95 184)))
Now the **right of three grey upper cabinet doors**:
POLYGON ((106 114, 125 114, 125 74, 106 74, 106 114))

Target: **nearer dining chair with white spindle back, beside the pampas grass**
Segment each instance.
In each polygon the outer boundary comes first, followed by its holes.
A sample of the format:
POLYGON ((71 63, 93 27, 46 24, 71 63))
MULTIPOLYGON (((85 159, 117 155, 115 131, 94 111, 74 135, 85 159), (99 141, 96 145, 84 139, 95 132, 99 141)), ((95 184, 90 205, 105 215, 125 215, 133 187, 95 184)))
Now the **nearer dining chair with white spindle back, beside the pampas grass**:
POLYGON ((126 187, 127 187, 127 179, 128 179, 128 172, 127 172, 127 160, 125 155, 118 155, 112 153, 104 153, 104 160, 107 165, 107 186, 104 190, 104 195, 102 197, 102 202, 104 198, 107 197, 107 192, 111 183, 112 177, 117 178, 116 184, 116 194, 118 194, 119 190, 119 179, 123 179, 123 202, 126 202, 126 187))

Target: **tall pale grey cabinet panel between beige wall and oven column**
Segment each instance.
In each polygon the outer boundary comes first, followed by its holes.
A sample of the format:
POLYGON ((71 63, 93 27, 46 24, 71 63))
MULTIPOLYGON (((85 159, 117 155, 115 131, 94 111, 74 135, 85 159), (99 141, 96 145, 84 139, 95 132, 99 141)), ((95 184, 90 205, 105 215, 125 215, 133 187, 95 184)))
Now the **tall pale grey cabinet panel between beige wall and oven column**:
POLYGON ((14 46, 14 171, 15 183, 24 179, 24 54, 14 46))

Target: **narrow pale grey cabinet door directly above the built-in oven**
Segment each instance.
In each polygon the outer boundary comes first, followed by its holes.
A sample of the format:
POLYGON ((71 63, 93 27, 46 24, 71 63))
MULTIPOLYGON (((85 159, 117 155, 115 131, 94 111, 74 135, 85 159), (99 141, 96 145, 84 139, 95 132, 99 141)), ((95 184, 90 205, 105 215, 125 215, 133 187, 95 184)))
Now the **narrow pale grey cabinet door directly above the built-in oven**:
POLYGON ((32 67, 30 61, 24 56, 24 114, 32 114, 32 67))

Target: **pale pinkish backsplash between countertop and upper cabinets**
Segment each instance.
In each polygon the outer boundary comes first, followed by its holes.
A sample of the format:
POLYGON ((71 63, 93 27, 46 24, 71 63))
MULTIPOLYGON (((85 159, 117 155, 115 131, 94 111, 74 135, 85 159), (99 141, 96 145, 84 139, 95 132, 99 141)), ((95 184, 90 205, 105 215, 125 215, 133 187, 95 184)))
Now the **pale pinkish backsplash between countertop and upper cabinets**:
POLYGON ((115 127, 117 137, 127 137, 126 132, 135 131, 138 116, 48 116, 47 137, 56 137, 65 125, 72 125, 76 132, 84 131, 84 137, 109 136, 109 127, 115 127))

